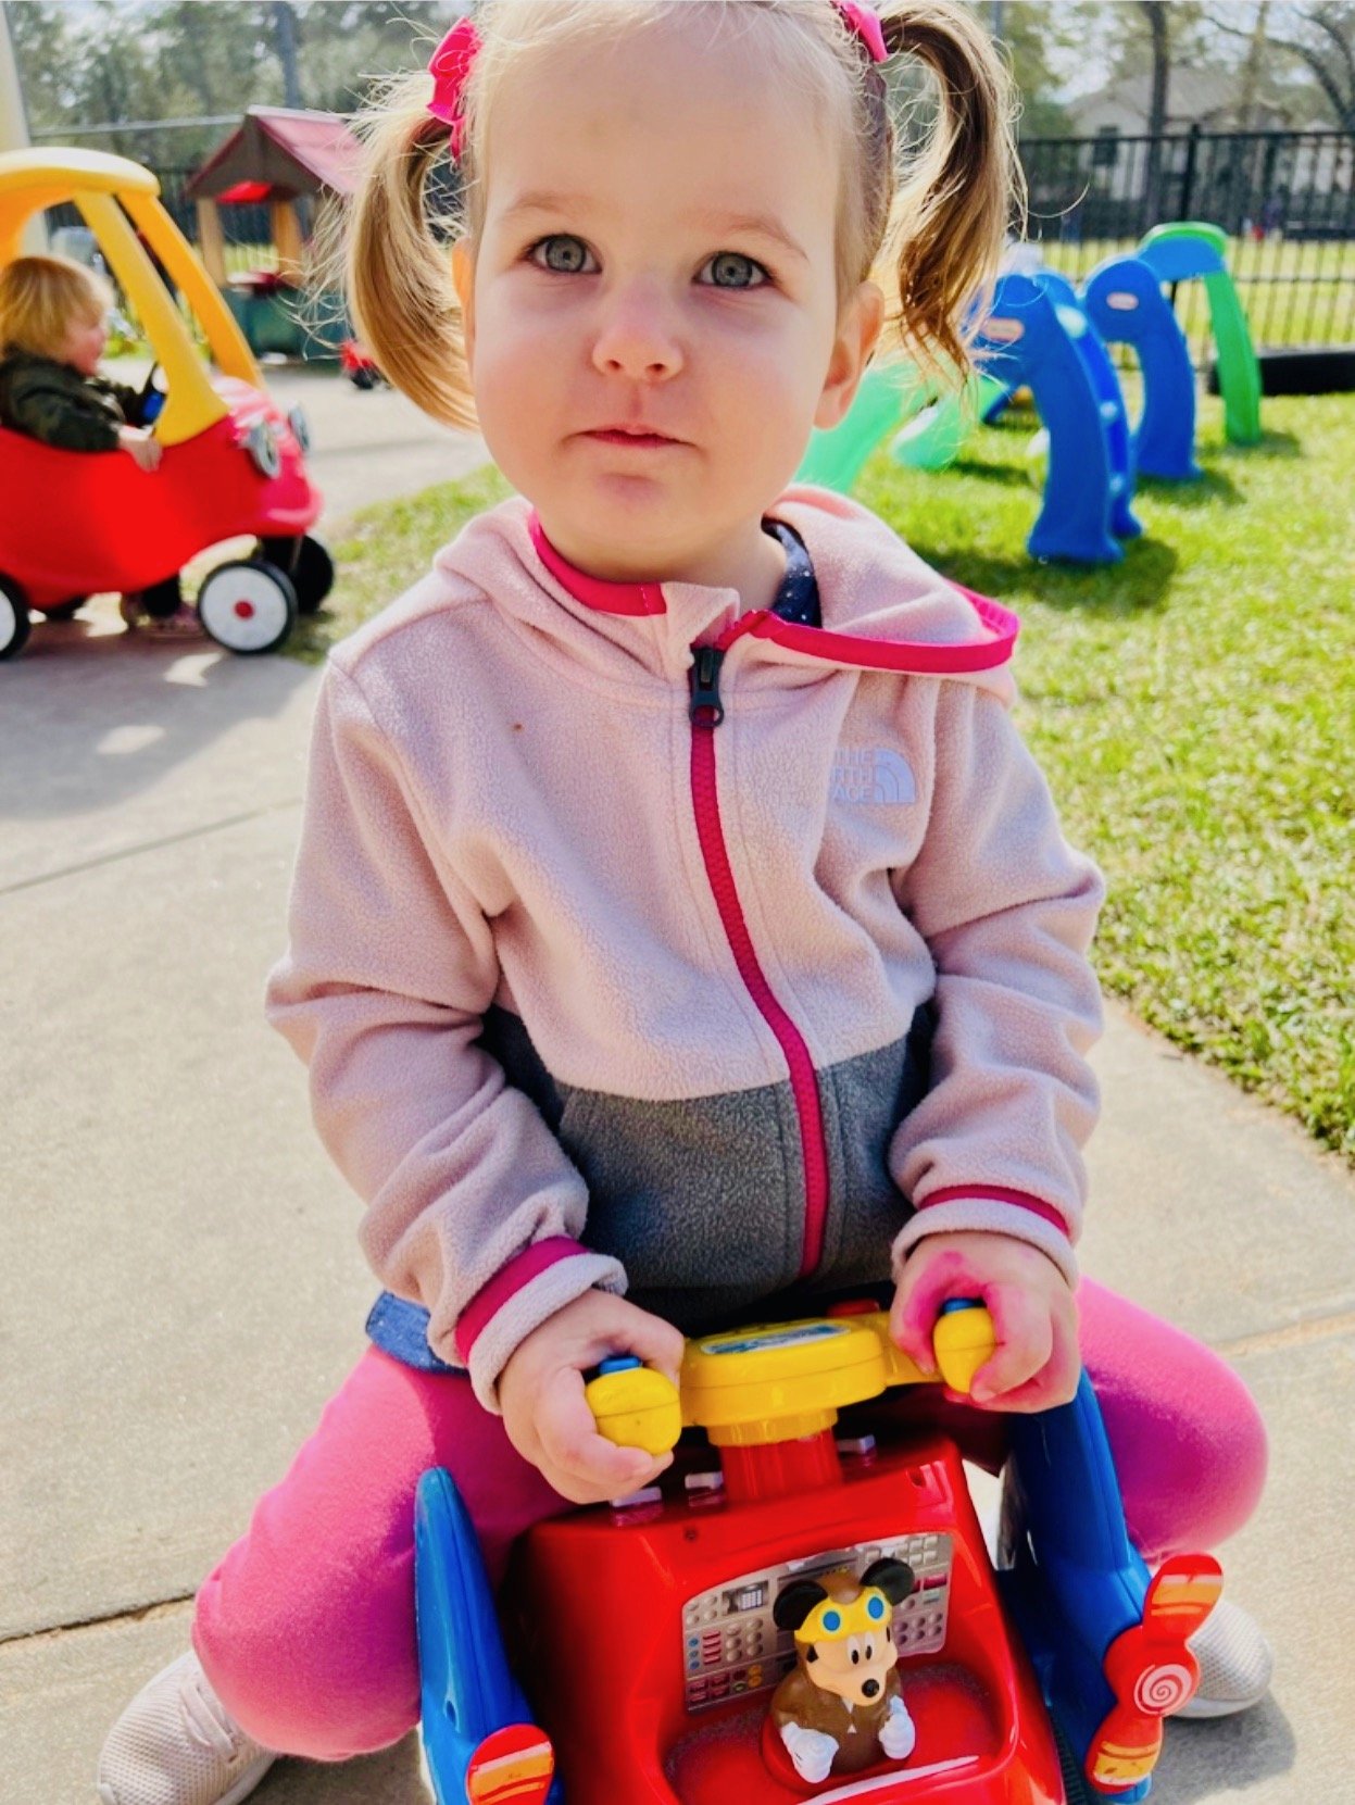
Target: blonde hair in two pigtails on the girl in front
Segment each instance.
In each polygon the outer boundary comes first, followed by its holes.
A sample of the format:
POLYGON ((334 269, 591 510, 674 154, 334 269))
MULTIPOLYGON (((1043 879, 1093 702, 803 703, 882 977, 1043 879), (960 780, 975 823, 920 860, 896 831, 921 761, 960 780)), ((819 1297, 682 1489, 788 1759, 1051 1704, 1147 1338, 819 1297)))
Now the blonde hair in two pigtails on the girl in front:
MULTIPOLYGON (((565 43, 615 38, 693 0, 489 0, 476 9, 482 38, 464 90, 460 211, 451 240, 475 251, 485 220, 484 144, 494 97, 527 58, 565 43)), ((763 56, 783 81, 826 108, 843 146, 835 276, 839 305, 877 265, 904 350, 933 370, 969 368, 963 314, 992 280, 1019 182, 1012 148, 1012 90, 983 29, 954 0, 882 0, 891 54, 917 56, 936 79, 931 137, 908 168, 897 164, 888 90, 830 0, 696 0, 738 9, 763 32, 763 56)), ((462 319, 451 282, 451 242, 429 226, 424 193, 447 126, 428 112, 429 78, 399 79, 363 121, 364 179, 346 244, 348 301, 386 375, 426 413, 476 430, 462 319)), ((877 278, 879 280, 879 278, 877 278)))

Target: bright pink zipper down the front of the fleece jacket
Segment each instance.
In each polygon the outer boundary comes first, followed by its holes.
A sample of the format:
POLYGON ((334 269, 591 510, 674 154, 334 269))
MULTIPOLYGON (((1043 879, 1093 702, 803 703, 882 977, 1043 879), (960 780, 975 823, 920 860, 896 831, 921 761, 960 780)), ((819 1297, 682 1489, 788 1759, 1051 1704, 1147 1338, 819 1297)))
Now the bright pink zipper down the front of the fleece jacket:
POLYGON ((724 720, 720 664, 734 639, 756 626, 760 612, 743 616, 716 644, 693 646, 691 800, 696 814, 696 838, 700 839, 702 859, 705 861, 705 875, 711 883, 714 906, 720 912, 720 924, 725 930, 738 975, 743 978, 761 1018, 772 1034, 776 1034, 776 1041, 790 1070, 790 1094, 796 1101, 805 1161, 805 1251, 799 1262, 799 1278, 807 1278, 823 1258, 823 1229, 828 1215, 828 1150, 823 1135, 819 1087, 814 1078, 814 1060, 805 1045, 805 1036, 776 1000, 752 949, 752 935, 743 919, 734 872, 729 865, 714 776, 714 729, 724 720))

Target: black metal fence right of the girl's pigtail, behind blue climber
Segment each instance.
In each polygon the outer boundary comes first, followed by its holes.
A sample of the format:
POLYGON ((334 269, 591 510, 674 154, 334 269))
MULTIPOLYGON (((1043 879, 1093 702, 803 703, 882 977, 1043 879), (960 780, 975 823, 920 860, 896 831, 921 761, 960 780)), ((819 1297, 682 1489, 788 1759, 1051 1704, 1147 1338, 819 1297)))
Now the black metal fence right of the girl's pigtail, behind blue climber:
MULTIPOLYGON (((1229 269, 1258 345, 1355 343, 1355 135, 1189 132, 1021 143, 1028 227, 1074 282, 1131 251, 1164 220, 1209 220, 1234 244, 1229 269)), ((1209 314, 1198 283, 1176 294, 1198 361, 1209 314)))

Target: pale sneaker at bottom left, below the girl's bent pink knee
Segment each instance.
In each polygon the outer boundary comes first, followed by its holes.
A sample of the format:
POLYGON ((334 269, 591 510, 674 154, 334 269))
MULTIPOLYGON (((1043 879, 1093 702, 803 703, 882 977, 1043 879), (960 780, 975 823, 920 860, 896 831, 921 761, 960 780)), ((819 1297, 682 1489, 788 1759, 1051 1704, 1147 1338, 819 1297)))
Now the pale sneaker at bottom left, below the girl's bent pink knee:
POLYGON ((202 1671, 180 1655, 141 1688, 99 1753, 103 1805, 236 1805, 272 1767, 202 1671))

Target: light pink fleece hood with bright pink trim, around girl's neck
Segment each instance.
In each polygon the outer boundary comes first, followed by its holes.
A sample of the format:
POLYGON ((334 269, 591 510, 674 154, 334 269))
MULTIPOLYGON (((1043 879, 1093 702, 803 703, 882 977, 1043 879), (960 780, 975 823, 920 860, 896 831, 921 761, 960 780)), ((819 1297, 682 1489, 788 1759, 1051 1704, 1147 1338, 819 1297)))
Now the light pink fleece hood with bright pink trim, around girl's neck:
POLYGON ((693 646, 727 648, 747 637, 776 662, 951 677, 1010 700, 1019 621, 1009 608, 940 576, 877 514, 832 489, 796 484, 769 518, 792 527, 808 551, 821 626, 765 608, 742 614, 734 588, 613 583, 577 570, 550 545, 525 496, 471 520, 433 567, 475 585, 521 626, 568 639, 576 655, 586 628, 613 673, 621 653, 680 677, 693 646))

